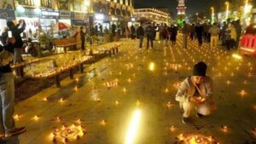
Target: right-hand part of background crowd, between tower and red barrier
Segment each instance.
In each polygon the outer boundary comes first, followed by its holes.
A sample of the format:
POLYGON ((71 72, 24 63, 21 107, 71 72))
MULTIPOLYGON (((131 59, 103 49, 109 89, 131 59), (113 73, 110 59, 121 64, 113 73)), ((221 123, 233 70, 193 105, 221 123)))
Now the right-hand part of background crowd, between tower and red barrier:
POLYGON ((187 24, 183 22, 183 48, 187 48, 188 39, 197 39, 199 47, 202 43, 211 43, 211 48, 217 48, 218 43, 226 49, 237 49, 241 37, 240 20, 224 22, 222 25, 217 23, 196 23, 187 24))

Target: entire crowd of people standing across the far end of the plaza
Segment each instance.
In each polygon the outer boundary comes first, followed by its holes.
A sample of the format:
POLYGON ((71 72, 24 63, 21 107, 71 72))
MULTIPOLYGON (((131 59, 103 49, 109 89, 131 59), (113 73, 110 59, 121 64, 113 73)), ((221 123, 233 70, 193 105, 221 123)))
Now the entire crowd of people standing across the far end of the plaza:
MULTIPOLYGON (((113 26, 112 26, 113 27, 113 26)), ((201 47, 203 43, 210 43, 211 48, 218 48, 219 45, 226 49, 237 49, 239 40, 242 34, 240 20, 218 23, 193 23, 188 24, 183 22, 183 25, 167 26, 166 24, 155 25, 154 23, 141 23, 140 26, 126 26, 125 37, 134 39, 137 37, 140 41, 139 47, 143 47, 143 36, 147 37, 147 47, 149 43, 151 47, 154 45, 154 40, 162 40, 165 46, 168 46, 171 41, 172 46, 176 44, 177 33, 180 31, 183 34, 183 48, 187 48, 188 40, 197 41, 201 47)), ((113 33, 116 28, 112 28, 113 33)))

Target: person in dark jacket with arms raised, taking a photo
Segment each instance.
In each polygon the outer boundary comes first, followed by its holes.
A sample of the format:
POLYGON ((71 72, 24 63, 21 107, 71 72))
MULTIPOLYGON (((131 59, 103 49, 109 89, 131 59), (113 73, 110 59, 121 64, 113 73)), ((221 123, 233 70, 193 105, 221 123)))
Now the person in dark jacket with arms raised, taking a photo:
POLYGON ((23 46, 23 41, 20 37, 20 34, 25 30, 26 23, 25 20, 19 20, 19 24, 15 26, 13 21, 8 21, 7 26, 9 31, 12 32, 12 36, 15 37, 15 58, 14 63, 19 63, 21 61, 21 48, 23 46))

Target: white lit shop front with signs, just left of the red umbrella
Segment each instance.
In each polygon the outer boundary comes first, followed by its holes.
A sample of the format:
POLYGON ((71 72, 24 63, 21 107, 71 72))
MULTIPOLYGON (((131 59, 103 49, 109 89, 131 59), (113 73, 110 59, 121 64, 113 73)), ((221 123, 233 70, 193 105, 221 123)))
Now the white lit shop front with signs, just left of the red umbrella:
POLYGON ((43 31, 49 31, 58 22, 60 12, 55 9, 41 9, 41 27, 43 31))

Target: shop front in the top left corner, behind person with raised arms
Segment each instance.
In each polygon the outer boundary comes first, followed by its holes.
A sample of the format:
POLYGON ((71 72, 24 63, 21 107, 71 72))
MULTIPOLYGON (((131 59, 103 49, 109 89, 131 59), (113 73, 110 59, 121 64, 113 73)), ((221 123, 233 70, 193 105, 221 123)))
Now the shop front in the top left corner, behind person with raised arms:
POLYGON ((0 1, 0 33, 3 32, 6 22, 15 20, 15 9, 12 0, 7 0, 5 3, 0 1))

